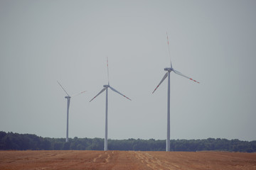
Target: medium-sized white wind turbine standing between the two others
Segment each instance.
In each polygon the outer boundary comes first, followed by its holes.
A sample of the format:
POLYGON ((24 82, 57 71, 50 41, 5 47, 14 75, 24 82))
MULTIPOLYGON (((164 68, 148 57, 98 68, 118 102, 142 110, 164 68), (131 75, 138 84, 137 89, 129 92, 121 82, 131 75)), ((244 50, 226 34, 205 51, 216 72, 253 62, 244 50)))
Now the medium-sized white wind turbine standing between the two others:
MULTIPOLYGON (((119 91, 117 91, 116 89, 112 88, 112 86, 110 86, 110 76, 109 76, 109 69, 108 69, 108 60, 107 60, 107 79, 108 79, 108 84, 104 85, 103 89, 100 91, 100 93, 98 93, 93 99, 95 99, 97 96, 99 96, 103 91, 106 91, 106 115, 105 115, 105 142, 104 142, 104 150, 107 151, 107 89, 110 88, 112 89, 112 91, 116 92, 117 94, 120 94, 121 96, 124 96, 123 94, 121 94, 119 91)), ((127 96, 124 96, 125 98, 129 99, 130 101, 132 101, 130 98, 128 98, 127 96)), ((90 102, 92 101, 90 100, 90 102)))

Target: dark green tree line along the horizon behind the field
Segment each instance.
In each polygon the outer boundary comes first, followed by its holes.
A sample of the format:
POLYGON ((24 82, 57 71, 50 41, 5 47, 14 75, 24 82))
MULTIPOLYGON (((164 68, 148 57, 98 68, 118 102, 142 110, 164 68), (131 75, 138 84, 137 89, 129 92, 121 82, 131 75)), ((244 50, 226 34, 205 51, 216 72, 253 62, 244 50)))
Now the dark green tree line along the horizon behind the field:
MULTIPOLYGON (((65 138, 38 137, 31 134, 18 134, 0 131, 0 150, 103 150, 102 138, 65 138)), ((108 140, 110 150, 165 151, 166 140, 108 140)), ((256 152, 256 140, 247 142, 208 138, 206 140, 171 140, 171 151, 228 151, 256 152)))

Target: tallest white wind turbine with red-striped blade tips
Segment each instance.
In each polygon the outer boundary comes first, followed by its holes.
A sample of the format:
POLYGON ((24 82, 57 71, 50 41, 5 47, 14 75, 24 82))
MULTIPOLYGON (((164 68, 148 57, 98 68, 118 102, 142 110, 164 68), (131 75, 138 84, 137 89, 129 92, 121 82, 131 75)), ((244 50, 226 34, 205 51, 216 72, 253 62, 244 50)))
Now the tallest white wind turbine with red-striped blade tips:
MULTIPOLYGON (((167 33, 166 33, 167 35, 167 33)), ((169 39, 168 39, 168 35, 167 35, 167 42, 168 42, 168 50, 169 50, 169 57, 170 57, 170 62, 171 62, 171 55, 170 55, 170 48, 169 48, 169 39)), ((166 67, 164 68, 164 71, 166 71, 166 74, 164 74, 163 79, 161 79, 159 85, 156 86, 156 89, 160 86, 160 84, 164 81, 164 79, 166 79, 166 77, 168 77, 168 91, 167 91, 167 137, 166 137, 166 152, 170 151, 170 73, 174 72, 175 74, 178 74, 182 77, 186 77, 184 74, 181 74, 181 72, 178 72, 176 69, 174 69, 172 67, 166 67)), ((198 81, 191 79, 190 77, 186 77, 187 79, 190 79, 192 81, 195 81, 196 83, 199 83, 198 81)), ((156 91, 156 89, 154 89, 154 91, 156 91)), ((154 91, 152 92, 152 94, 154 93, 154 91)))

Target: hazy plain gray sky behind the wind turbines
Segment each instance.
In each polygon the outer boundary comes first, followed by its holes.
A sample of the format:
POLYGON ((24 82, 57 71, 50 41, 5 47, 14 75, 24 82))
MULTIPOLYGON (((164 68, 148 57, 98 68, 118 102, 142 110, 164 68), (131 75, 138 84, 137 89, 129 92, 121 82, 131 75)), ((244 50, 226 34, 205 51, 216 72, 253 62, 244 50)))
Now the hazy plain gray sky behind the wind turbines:
POLYGON ((256 140, 256 1, 0 0, 0 130, 65 137, 256 140))

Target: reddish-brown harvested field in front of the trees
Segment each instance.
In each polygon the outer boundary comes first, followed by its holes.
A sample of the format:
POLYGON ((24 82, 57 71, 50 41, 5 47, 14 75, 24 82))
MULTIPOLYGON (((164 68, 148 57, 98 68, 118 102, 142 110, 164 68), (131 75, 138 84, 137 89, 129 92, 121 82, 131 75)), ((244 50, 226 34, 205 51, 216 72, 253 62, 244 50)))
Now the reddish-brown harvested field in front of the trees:
POLYGON ((0 151, 0 169, 256 169, 256 153, 0 151))

